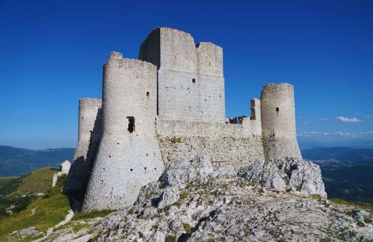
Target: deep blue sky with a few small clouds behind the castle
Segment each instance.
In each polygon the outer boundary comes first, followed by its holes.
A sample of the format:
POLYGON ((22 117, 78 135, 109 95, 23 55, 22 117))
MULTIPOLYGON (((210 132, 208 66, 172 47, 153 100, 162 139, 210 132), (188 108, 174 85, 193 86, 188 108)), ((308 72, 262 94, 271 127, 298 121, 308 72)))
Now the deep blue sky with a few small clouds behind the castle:
POLYGON ((223 47, 226 115, 266 83, 295 87, 298 138, 373 141, 373 1, 0 0, 0 145, 75 147, 78 100, 110 51, 155 27, 223 47))

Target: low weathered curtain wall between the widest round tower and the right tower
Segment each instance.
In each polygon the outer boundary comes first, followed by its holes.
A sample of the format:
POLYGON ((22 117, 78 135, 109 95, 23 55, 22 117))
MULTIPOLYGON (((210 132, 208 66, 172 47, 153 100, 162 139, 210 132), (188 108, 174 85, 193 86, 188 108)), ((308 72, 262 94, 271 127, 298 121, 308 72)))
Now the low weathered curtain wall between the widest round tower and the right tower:
POLYGON ((205 155, 213 162, 239 167, 264 159, 260 129, 254 121, 241 125, 158 120, 156 132, 162 160, 168 166, 180 158, 205 155))

